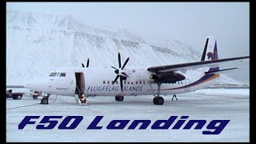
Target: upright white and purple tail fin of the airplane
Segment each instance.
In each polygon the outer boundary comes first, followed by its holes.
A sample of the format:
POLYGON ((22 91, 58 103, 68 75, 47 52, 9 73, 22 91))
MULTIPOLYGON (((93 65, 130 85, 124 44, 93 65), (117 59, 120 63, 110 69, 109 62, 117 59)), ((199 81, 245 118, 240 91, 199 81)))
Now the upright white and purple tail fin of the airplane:
MULTIPOLYGON (((216 38, 209 36, 206 38, 206 45, 202 52, 201 61, 211 61, 218 59, 217 40, 216 38)), ((208 72, 219 70, 218 66, 210 67, 208 72)))

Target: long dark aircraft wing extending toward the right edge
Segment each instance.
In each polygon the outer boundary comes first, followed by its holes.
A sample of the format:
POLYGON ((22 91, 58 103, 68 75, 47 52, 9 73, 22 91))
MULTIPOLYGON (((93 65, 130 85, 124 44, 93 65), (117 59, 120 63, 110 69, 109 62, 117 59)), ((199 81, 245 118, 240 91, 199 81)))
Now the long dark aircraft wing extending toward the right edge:
MULTIPOLYGON (((186 71, 191 69, 196 69, 200 67, 214 67, 219 66, 219 64, 230 62, 230 61, 238 61, 242 59, 250 58, 250 56, 245 57, 236 57, 236 58, 223 58, 223 59, 217 59, 217 60, 211 60, 211 61, 200 61, 200 62, 188 62, 188 63, 181 63, 181 64, 174 64, 174 65, 166 65, 166 66, 152 66, 149 67, 147 70, 150 72, 170 72, 170 71, 186 71)), ((231 68, 237 69, 237 68, 231 68)), ((231 70, 226 69, 226 70, 231 70)))

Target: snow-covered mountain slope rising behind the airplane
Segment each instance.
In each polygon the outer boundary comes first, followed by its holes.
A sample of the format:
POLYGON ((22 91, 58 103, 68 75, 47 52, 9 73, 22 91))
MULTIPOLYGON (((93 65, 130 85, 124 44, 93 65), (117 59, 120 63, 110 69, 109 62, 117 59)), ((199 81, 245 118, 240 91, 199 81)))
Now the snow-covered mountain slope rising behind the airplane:
POLYGON ((46 76, 56 67, 118 66, 118 51, 127 66, 195 62, 201 54, 178 40, 139 36, 127 30, 88 26, 71 15, 6 13, 6 85, 46 76))

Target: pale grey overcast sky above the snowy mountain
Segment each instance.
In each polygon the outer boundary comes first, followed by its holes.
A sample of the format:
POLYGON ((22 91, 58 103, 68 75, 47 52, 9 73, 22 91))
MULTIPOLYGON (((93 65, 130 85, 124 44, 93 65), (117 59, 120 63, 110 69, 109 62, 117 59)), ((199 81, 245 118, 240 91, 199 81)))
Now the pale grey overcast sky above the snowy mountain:
MULTIPOLYGON (((178 39, 202 53, 214 35, 218 57, 249 55, 249 2, 7 2, 6 10, 71 14, 95 26, 123 28, 137 34, 178 39)), ((246 70, 232 73, 249 82, 246 70)), ((234 77, 233 76, 233 77, 234 77)), ((238 79, 239 79, 238 78, 238 79)), ((240 79, 241 79, 240 78, 240 79)))

